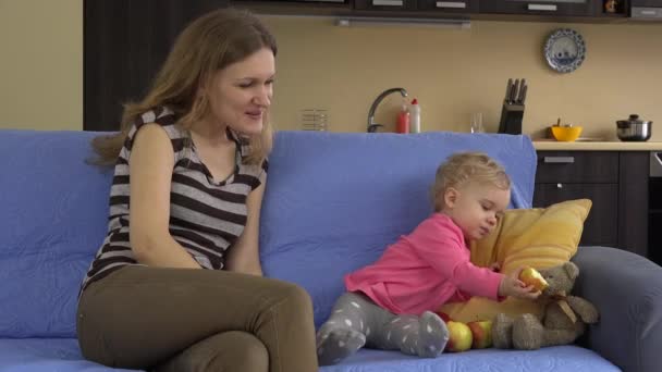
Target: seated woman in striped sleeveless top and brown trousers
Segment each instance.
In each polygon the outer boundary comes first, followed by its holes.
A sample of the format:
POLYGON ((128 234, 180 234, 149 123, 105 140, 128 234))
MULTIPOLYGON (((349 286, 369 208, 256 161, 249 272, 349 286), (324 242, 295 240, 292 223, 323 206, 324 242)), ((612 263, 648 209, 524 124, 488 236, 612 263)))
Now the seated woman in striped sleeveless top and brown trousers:
POLYGON ((304 289, 262 277, 260 203, 277 52, 254 15, 219 10, 179 36, 122 131, 108 235, 82 284, 83 355, 159 371, 317 370, 304 289))

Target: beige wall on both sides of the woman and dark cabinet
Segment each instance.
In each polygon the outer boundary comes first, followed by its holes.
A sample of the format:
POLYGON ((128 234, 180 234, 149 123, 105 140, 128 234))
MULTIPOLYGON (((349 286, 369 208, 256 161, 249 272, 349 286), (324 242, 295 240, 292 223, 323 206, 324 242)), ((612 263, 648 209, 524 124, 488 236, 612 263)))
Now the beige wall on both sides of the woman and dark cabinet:
MULTIPOLYGON (((82 0, 0 0, 0 127, 82 128, 82 0)), ((296 129, 299 112, 326 108, 330 129, 364 132, 372 99, 403 86, 422 104, 426 131, 466 132, 483 112, 497 129, 508 77, 529 82, 524 131, 540 135, 561 116, 586 136, 614 137, 614 121, 639 113, 662 125, 662 24, 593 25, 474 22, 469 30, 335 27, 328 18, 266 17, 275 33, 274 121, 296 129), (571 74, 550 70, 544 37, 579 30, 587 60, 571 74), (658 104, 655 104, 658 103, 658 104)), ((400 98, 378 122, 393 128, 400 98)), ((662 140, 662 129, 653 129, 662 140)))

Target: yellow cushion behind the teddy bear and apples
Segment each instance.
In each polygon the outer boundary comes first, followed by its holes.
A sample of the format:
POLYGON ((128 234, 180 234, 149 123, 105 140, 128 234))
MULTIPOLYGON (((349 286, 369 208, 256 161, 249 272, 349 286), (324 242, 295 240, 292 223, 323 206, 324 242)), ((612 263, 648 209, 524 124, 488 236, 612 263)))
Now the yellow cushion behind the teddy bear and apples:
MULTIPOLYGON (((489 236, 471 244, 471 262, 486 268, 499 262, 506 275, 520 266, 545 269, 566 262, 577 252, 591 206, 589 199, 578 199, 549 208, 510 209, 489 236)), ((491 320, 501 312, 540 315, 542 305, 515 298, 498 302, 474 297, 467 302, 446 303, 441 311, 454 320, 470 322, 491 320)))

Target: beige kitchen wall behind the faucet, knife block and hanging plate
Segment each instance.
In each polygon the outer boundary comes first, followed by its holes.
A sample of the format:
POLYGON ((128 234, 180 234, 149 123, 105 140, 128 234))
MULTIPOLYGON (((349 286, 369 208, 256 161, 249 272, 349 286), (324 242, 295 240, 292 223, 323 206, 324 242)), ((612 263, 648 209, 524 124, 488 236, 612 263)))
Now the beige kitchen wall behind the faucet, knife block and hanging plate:
MULTIPOLYGON (((364 132, 383 89, 403 86, 422 104, 424 129, 468 131, 483 112, 495 132, 508 77, 529 83, 524 131, 541 135, 559 116, 586 136, 615 137, 615 121, 639 113, 662 127, 662 24, 596 25, 474 22, 469 30, 345 28, 330 20, 268 17, 280 44, 274 117, 297 128, 305 108, 327 108, 332 131, 364 132), (588 51, 571 74, 548 67, 544 38, 572 27, 588 51)), ((393 129, 399 95, 377 120, 393 129)), ((653 129, 662 140, 662 129, 653 129)))

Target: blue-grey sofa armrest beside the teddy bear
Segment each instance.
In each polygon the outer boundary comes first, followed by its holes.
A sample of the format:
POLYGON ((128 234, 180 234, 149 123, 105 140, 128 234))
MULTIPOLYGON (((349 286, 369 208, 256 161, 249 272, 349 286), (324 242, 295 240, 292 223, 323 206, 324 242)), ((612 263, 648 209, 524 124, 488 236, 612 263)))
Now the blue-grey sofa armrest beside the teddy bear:
POLYGON ((662 365, 662 268, 629 251, 579 247, 575 293, 600 311, 587 346, 624 371, 653 372, 662 365))

